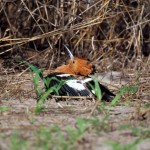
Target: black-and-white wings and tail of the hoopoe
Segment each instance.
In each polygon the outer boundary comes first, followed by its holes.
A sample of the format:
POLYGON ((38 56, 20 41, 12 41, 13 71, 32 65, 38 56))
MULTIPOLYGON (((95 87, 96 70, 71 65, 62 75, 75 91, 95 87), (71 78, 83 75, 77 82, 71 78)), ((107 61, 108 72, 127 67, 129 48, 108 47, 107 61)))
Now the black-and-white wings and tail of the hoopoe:
MULTIPOLYGON (((95 82, 91 77, 83 77, 79 79, 70 74, 52 73, 49 74, 46 79, 50 79, 46 89, 53 86, 58 87, 58 93, 53 93, 55 95, 95 97, 95 91, 92 88, 95 86, 95 82)), ((115 95, 104 85, 100 83, 98 85, 98 88, 100 88, 102 92, 102 100, 111 101, 112 97, 115 95)))

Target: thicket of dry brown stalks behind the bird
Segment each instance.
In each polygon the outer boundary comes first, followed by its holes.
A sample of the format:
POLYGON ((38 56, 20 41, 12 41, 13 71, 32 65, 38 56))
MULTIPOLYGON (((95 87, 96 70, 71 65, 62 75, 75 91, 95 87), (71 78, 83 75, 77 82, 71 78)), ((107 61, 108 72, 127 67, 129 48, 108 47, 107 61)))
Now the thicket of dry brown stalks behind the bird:
POLYGON ((0 61, 5 69, 22 69, 22 60, 55 68, 67 44, 99 71, 146 69, 149 13, 150 0, 2 0, 0 61))

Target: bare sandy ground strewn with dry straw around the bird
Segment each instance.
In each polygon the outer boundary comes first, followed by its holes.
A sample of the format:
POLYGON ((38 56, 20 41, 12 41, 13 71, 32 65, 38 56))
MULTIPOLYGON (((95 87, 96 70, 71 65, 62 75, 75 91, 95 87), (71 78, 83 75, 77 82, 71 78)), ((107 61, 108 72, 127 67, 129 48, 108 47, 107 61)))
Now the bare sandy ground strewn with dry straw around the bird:
MULTIPOLYGON (((91 100, 68 99, 60 102, 63 108, 59 108, 54 99, 49 99, 44 103, 45 110, 35 115, 36 96, 29 74, 1 76, 0 84, 0 106, 9 108, 7 111, 0 112, 0 134, 5 137, 9 137, 16 129, 21 130, 25 137, 31 137, 32 131, 40 126, 59 125, 62 130, 66 126, 75 127, 76 119, 90 118, 95 106, 91 100)), ((95 110, 93 115, 99 119, 108 116, 106 120, 108 127, 100 135, 95 133, 94 129, 92 132, 85 132, 84 142, 78 143, 77 148, 111 150, 113 148, 105 144, 108 141, 128 144, 133 143, 137 138, 142 138, 142 135, 134 135, 130 128, 121 130, 120 127, 130 125, 142 130, 150 130, 150 109, 143 107, 148 103, 148 96, 142 100, 123 100, 114 107, 106 103, 105 111, 95 110)), ((137 148, 149 150, 150 136, 144 137, 137 148)), ((0 149, 9 149, 8 140, 5 138, 0 138, 0 149)))

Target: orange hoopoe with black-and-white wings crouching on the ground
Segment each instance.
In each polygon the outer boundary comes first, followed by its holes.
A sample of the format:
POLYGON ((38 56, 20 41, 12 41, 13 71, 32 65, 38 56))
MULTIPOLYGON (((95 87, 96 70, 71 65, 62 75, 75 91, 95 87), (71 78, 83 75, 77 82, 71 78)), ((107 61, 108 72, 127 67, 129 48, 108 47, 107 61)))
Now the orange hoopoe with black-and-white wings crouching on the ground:
MULTIPOLYGON (((46 89, 53 86, 59 87, 58 91, 53 93, 59 96, 95 97, 95 82, 89 76, 95 72, 95 67, 86 59, 74 57, 67 47, 66 50, 70 56, 67 65, 57 67, 53 73, 45 77, 51 79, 50 83, 45 85, 46 89)), ((111 101, 115 96, 100 83, 98 88, 101 90, 102 100, 111 101)))

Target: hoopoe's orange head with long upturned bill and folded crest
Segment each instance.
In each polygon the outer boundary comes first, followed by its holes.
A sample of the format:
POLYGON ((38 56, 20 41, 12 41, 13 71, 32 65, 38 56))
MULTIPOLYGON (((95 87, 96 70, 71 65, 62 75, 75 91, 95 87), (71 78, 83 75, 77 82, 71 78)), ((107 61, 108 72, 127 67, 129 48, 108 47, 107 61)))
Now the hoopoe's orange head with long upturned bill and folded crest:
POLYGON ((92 65, 87 59, 74 57, 67 47, 66 49, 70 56, 68 66, 74 75, 87 76, 95 72, 95 66, 92 65))

